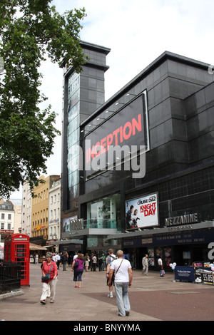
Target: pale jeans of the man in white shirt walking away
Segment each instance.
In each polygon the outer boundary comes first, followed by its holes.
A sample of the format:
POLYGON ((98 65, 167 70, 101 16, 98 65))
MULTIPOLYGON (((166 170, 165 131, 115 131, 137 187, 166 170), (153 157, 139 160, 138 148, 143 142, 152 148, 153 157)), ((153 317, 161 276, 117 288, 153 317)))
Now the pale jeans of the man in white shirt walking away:
POLYGON ((128 282, 115 282, 116 301, 118 305, 118 314, 126 316, 126 311, 130 311, 128 299, 128 282))

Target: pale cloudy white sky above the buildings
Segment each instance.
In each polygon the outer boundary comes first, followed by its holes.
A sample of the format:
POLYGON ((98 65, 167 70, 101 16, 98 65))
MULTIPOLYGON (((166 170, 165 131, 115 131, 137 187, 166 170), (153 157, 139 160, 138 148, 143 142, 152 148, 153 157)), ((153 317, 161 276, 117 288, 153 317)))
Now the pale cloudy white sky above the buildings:
MULTIPOLYGON (((53 0, 52 4, 60 14, 84 7, 81 40, 111 48, 106 57, 110 68, 105 73, 105 100, 164 51, 214 64, 213 0, 53 0)), ((61 130, 62 69, 46 61, 41 73, 41 91, 49 97, 46 105, 58 114, 56 128, 61 130)), ((47 175, 61 174, 61 136, 47 167, 47 175)), ((11 199, 21 199, 21 190, 11 199)))

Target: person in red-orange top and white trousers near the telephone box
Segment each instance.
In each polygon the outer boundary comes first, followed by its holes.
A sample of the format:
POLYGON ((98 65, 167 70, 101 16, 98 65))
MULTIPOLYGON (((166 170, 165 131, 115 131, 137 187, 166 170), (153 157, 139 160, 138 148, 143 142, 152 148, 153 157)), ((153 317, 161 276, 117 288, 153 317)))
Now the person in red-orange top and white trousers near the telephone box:
POLYGON ((53 262, 51 252, 46 253, 46 261, 43 263, 41 268, 42 276, 50 272, 50 279, 47 282, 42 282, 42 294, 40 298, 41 304, 46 304, 46 298, 49 294, 49 288, 51 292, 50 302, 53 303, 56 294, 56 283, 57 283, 57 266, 53 262))

